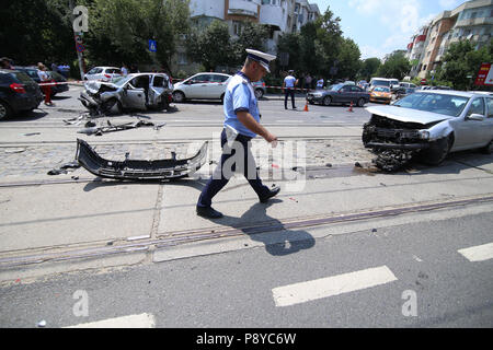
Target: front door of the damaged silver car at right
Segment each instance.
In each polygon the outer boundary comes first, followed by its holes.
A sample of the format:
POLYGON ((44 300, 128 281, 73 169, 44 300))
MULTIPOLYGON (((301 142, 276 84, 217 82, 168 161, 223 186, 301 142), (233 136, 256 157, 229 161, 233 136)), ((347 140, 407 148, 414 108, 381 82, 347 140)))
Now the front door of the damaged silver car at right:
POLYGON ((455 132, 454 150, 467 150, 479 148, 486 142, 486 132, 483 129, 489 124, 489 118, 485 115, 485 105, 483 97, 475 97, 462 114, 461 117, 452 120, 455 132), (483 120, 472 120, 468 117, 472 114, 480 114, 484 116, 483 120))

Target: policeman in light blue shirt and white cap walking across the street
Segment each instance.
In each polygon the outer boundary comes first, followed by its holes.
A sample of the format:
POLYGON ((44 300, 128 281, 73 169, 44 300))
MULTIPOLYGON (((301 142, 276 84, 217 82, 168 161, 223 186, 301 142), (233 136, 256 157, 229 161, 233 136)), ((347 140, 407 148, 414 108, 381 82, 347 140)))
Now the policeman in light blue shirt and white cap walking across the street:
POLYGON ((246 49, 246 52, 248 57, 241 71, 230 79, 226 88, 222 108, 225 113, 225 127, 221 132, 222 154, 197 201, 196 212, 203 218, 222 218, 222 213, 213 209, 211 201, 228 184, 233 172, 243 173, 261 202, 267 202, 280 190, 278 186, 270 189, 262 184, 251 151, 251 140, 257 135, 267 142, 273 142, 273 147, 277 142, 277 137, 260 124, 257 100, 252 86, 252 82, 271 72, 268 63, 276 57, 253 49, 246 49))

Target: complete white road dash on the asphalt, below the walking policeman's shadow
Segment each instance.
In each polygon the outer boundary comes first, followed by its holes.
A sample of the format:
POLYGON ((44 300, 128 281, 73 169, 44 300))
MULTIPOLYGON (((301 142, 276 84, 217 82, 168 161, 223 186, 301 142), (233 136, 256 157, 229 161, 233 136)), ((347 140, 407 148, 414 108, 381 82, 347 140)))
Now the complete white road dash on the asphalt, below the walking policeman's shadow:
POLYGON ((395 281, 387 266, 321 278, 272 290, 276 306, 289 306, 395 281))

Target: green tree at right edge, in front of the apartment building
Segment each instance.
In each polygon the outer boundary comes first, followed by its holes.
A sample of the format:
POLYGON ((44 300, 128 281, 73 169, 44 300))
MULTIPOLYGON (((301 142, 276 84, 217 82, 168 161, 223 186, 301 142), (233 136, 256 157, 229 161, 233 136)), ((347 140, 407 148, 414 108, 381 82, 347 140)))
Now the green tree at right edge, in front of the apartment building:
POLYGON ((468 40, 450 44, 443 61, 438 79, 450 81, 456 90, 471 89, 481 63, 492 61, 492 44, 479 50, 468 40))

